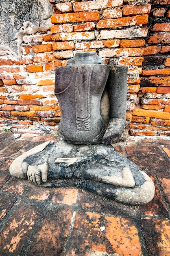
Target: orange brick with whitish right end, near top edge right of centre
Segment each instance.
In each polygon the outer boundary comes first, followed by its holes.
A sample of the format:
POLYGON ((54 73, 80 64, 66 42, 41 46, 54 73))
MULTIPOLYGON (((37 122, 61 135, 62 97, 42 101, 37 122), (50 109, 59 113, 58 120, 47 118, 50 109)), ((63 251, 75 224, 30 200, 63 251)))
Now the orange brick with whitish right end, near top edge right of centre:
POLYGON ((151 9, 151 4, 146 5, 129 5, 126 4, 123 7, 123 15, 135 15, 135 14, 149 14, 151 9))

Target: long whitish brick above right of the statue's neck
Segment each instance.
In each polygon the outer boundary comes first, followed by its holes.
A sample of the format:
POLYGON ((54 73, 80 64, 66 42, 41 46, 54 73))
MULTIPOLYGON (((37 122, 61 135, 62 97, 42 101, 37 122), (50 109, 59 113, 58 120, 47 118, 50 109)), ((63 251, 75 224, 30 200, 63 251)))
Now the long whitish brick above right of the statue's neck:
POLYGON ((148 34, 148 28, 129 28, 123 30, 101 30, 100 36, 102 39, 112 38, 134 38, 134 37, 146 37, 148 34))

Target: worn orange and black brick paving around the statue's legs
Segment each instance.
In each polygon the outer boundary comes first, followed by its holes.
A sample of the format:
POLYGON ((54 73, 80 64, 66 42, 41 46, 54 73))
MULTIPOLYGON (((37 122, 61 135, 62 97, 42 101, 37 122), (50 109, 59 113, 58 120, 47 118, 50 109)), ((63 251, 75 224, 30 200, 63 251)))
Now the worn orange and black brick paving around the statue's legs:
POLYGON ((155 182, 155 197, 127 206, 81 189, 41 188, 11 162, 52 135, 0 133, 0 256, 170 255, 170 138, 129 137, 116 149, 155 182))

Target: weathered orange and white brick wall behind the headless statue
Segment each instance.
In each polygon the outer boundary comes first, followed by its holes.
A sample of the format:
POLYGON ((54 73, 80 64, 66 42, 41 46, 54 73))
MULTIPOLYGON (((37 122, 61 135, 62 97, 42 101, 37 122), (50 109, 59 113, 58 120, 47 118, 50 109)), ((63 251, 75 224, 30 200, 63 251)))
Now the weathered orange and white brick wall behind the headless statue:
POLYGON ((106 64, 128 65, 126 131, 169 135, 168 0, 49 1, 55 13, 51 29, 25 35, 20 60, 0 52, 0 130, 56 132, 61 112, 54 70, 81 50, 96 51, 106 64))

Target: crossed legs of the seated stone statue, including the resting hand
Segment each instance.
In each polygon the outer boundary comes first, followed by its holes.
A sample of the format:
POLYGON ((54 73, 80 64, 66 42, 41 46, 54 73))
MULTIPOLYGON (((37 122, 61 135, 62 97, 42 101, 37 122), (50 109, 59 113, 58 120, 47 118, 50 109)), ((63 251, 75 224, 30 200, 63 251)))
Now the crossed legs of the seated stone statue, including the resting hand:
POLYGON ((39 186, 76 186, 125 204, 146 204, 155 193, 146 173, 104 144, 47 141, 15 159, 10 173, 39 186))

